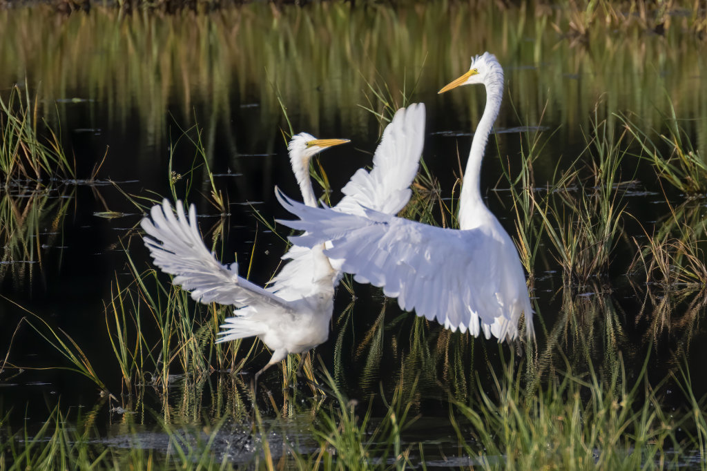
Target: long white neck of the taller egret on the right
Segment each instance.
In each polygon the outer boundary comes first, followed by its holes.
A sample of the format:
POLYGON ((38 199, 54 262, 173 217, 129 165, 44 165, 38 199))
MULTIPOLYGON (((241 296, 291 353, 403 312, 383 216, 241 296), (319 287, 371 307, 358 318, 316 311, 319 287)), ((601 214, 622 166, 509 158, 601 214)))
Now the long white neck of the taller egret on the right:
POLYGON ((479 120, 472 150, 469 152, 467 170, 464 172, 464 184, 459 201, 459 226, 462 229, 472 229, 479 224, 479 212, 489 211, 481 197, 481 161, 484 159, 486 142, 493 129, 493 122, 501 110, 503 98, 503 69, 499 66, 500 74, 490 74, 486 79, 486 108, 484 115, 479 120))

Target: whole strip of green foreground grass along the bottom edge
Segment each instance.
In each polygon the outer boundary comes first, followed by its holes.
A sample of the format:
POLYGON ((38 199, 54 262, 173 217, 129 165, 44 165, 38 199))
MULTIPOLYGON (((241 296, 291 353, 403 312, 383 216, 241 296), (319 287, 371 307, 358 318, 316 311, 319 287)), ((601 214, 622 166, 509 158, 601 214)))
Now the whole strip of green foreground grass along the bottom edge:
MULTIPOLYGON (((499 351, 505 354, 503 348, 499 351)), ((511 359, 513 354, 510 351, 511 359)), ((556 370, 547 385, 532 390, 525 387, 525 375, 513 361, 504 361, 499 375, 489 368, 490 388, 481 384, 482 375, 477 373, 477 388, 469 397, 450 397, 450 424, 458 441, 455 457, 483 470, 684 467, 695 453, 698 457, 707 453, 704 399, 691 392, 686 368, 677 368, 669 378, 655 383, 655 378, 648 380, 648 363, 645 359, 638 371, 629 372, 619 354, 612 368, 604 368, 601 374, 589 359, 588 370, 579 373, 566 359, 566 372, 556 370), (686 409, 679 413, 662 407, 660 391, 667 380, 677 383, 688 398, 686 409)), ((331 394, 325 402, 309 400, 291 410, 293 417, 311 417, 308 438, 284 434, 281 426, 292 419, 266 421, 258 407, 248 414, 250 421, 233 417, 237 420, 231 431, 224 425, 233 411, 177 423, 173 423, 176 417, 154 414, 155 433, 168 438, 170 451, 165 455, 163 450, 124 448, 95 440, 98 433, 90 419, 95 410, 86 419, 76 419, 79 426, 73 426, 57 406, 33 434, 26 426, 13 433, 5 424, 10 414, 0 416, 0 428, 5 431, 0 437, 0 469, 215 470, 230 469, 232 459, 257 470, 402 471, 431 465, 425 463, 425 455, 436 449, 438 441, 419 442, 406 432, 418 418, 412 417, 419 401, 414 394, 418 378, 400 378, 390 401, 382 393, 384 412, 378 418, 373 415, 372 402, 363 405, 346 397, 324 369, 320 380, 331 394), (411 395, 404 392, 408 388, 411 395), (243 446, 239 443, 252 443, 247 454, 238 454, 238 447, 243 446)), ((194 388, 189 385, 187 390, 194 388)), ((274 406, 275 410, 287 409, 274 406)), ((140 441, 139 436, 130 439, 136 444, 140 441)), ((700 469, 704 469, 703 462, 700 469)))

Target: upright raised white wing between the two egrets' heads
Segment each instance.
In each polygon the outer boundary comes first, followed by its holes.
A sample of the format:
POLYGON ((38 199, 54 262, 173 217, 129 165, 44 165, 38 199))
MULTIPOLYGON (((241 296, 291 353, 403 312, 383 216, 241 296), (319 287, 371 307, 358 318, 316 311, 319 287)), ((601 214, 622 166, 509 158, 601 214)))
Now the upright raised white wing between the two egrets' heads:
POLYGON ((425 105, 400 108, 375 149, 373 170, 358 169, 341 189, 346 196, 334 209, 361 216, 361 207, 397 214, 412 196, 410 185, 417 175, 424 141, 425 105))

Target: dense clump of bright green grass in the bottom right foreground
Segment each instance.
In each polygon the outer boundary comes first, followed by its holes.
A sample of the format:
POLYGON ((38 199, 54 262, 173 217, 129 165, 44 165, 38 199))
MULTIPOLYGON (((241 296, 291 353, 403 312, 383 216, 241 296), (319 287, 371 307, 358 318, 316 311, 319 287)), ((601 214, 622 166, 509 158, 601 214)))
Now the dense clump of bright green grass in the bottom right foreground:
MULTIPOLYGON (((701 436, 676 434, 688 421, 701 423, 703 407, 692 402, 681 417, 662 409, 660 384, 648 383, 648 361, 631 382, 620 357, 602 377, 591 364, 585 375, 574 373, 569 364, 566 368, 546 388, 527 395, 519 373, 506 366, 503 376, 492 373, 496 397, 478 388, 468 405, 455 404, 477 438, 477 446, 465 445, 474 463, 484 470, 674 469, 680 466, 679 455, 703 449, 701 436)), ((689 389, 685 380, 683 387, 689 389)), ((454 414, 450 419, 457 423, 454 414)), ((466 443, 458 425, 457 433, 466 443)))

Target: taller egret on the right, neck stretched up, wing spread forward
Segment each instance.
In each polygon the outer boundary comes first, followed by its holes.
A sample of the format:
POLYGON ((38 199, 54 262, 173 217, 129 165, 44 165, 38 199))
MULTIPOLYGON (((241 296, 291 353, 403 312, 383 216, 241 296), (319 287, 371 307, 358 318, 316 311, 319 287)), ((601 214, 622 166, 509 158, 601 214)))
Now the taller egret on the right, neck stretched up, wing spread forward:
MULTIPOLYGON (((343 260, 356 281, 382 286, 402 309, 436 318, 445 327, 473 335, 483 330, 501 339, 518 337, 520 315, 532 337, 532 307, 513 240, 486 208, 479 185, 481 160, 493 122, 501 109, 503 69, 488 52, 472 59, 469 71, 440 93, 483 83, 486 109, 474 133, 459 206, 460 230, 427 226, 373 211, 366 217, 306 208, 276 192, 300 221, 281 221, 308 231, 292 238, 300 245, 330 240, 325 254, 343 260)), ((363 206, 366 206, 365 204, 363 206)))

